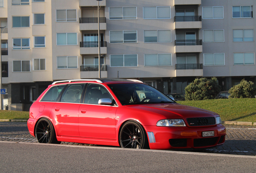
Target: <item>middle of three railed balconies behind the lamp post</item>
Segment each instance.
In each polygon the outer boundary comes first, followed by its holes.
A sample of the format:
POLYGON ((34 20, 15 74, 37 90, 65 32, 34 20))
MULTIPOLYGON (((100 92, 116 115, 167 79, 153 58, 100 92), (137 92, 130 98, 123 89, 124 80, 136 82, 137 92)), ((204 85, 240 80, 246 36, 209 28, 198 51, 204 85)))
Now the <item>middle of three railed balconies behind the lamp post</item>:
MULTIPOLYGON (((98 54, 98 42, 80 42, 80 54, 98 54)), ((101 41, 101 54, 107 54, 107 42, 101 41)))

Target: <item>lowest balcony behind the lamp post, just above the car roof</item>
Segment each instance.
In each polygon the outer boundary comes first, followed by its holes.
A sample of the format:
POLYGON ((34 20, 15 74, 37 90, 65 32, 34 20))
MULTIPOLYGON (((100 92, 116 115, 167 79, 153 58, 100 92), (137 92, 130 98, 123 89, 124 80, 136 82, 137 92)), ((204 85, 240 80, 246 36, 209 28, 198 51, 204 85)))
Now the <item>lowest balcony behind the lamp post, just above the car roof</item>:
MULTIPOLYGON (((99 77, 99 66, 80 66, 80 78, 98 78, 99 77)), ((107 66, 101 66, 101 77, 107 78, 107 66)))

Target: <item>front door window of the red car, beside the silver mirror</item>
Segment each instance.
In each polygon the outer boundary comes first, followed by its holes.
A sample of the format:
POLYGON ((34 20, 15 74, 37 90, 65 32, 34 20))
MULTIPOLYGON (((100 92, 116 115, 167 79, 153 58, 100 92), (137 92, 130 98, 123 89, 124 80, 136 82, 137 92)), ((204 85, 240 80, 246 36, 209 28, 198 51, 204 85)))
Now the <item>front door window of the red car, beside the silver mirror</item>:
POLYGON ((99 99, 107 98, 113 101, 111 95, 103 86, 97 84, 89 84, 85 93, 84 103, 98 105, 99 99))

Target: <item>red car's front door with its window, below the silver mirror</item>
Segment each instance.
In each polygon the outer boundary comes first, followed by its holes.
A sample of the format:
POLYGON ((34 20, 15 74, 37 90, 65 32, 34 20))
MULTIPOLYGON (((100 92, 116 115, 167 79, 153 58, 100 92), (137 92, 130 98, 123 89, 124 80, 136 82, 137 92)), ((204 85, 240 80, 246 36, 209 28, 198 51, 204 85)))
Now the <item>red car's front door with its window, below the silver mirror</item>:
POLYGON ((99 99, 111 95, 99 84, 88 84, 84 103, 78 111, 78 129, 81 137, 97 139, 116 139, 116 109, 113 105, 99 105, 99 99))

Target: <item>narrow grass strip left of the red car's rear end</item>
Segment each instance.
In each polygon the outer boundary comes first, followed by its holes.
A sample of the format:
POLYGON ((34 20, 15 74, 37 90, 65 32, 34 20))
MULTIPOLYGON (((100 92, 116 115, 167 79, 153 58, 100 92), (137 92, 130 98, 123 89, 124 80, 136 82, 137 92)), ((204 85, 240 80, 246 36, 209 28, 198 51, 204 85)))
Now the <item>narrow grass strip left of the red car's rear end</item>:
POLYGON ((4 111, 0 110, 0 119, 29 119, 29 112, 26 111, 4 111))

